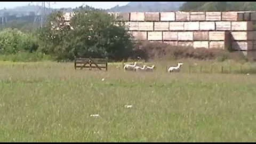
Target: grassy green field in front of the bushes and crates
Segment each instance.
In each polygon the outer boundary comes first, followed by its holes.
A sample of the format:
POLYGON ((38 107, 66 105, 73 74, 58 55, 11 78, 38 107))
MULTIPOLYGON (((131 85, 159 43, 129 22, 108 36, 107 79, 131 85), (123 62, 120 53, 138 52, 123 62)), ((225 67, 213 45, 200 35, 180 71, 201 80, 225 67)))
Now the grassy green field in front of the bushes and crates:
POLYGON ((256 75, 189 74, 186 63, 167 74, 165 64, 134 73, 116 63, 106 72, 0 62, 0 141, 256 141, 256 75))

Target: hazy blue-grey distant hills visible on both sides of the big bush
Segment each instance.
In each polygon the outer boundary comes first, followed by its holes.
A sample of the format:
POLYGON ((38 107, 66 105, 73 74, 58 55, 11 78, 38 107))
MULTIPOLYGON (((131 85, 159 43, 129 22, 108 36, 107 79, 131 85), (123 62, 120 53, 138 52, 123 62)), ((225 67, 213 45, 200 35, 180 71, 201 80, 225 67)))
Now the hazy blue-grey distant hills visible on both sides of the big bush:
MULTIPOLYGON (((177 11, 185 2, 130 2, 125 6, 115 6, 106 11, 108 12, 164 12, 177 11)), ((85 9, 93 9, 90 6, 84 6, 85 9)), ((77 8, 75 8, 77 9, 77 8)), ((71 12, 75 9, 45 9, 45 14, 53 11, 62 10, 71 12)), ((40 26, 41 15, 43 14, 42 6, 19 6, 14 9, 0 10, 0 30, 7 27, 19 28, 21 30, 32 30, 40 26), (3 18, 3 19, 2 19, 3 18)))

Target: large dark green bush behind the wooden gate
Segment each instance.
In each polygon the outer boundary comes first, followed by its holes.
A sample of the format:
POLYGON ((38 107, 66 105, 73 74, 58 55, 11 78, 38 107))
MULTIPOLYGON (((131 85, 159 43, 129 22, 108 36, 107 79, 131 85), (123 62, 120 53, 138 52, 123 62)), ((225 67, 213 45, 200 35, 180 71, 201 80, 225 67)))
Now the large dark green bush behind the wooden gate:
POLYGON ((115 22, 101 10, 85 8, 79 7, 74 12, 70 24, 65 22, 62 12, 51 14, 47 25, 39 30, 40 50, 58 60, 129 57, 133 43, 124 23, 115 22))

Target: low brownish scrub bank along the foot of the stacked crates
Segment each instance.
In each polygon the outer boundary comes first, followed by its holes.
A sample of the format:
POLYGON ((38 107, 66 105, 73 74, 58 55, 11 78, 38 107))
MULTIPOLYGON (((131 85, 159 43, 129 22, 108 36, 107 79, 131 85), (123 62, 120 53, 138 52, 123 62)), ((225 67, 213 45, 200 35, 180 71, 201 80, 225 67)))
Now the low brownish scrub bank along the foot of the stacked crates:
POLYGON ((182 59, 193 58, 198 60, 218 60, 225 61, 226 59, 244 60, 245 57, 239 52, 228 52, 221 49, 205 49, 193 47, 172 46, 166 43, 159 42, 138 42, 136 48, 133 50, 131 58, 140 55, 142 59, 182 59))

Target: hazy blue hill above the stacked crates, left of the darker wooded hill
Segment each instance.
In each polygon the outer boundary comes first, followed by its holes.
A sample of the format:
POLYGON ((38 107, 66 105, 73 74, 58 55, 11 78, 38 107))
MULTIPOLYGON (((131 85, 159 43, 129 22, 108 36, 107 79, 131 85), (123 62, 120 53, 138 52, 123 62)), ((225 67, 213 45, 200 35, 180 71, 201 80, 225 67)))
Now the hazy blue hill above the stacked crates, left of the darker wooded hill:
POLYGON ((115 6, 108 12, 166 12, 178 11, 185 2, 130 2, 125 6, 115 6))

